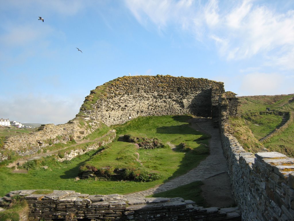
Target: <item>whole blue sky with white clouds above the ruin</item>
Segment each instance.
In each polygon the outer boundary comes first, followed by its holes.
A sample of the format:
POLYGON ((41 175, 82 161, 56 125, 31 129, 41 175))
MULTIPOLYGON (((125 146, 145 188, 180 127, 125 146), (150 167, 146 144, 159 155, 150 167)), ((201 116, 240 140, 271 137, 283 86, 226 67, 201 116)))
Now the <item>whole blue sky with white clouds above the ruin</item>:
POLYGON ((129 73, 294 93, 293 0, 0 0, 0 21, 0 118, 66 123, 129 73))

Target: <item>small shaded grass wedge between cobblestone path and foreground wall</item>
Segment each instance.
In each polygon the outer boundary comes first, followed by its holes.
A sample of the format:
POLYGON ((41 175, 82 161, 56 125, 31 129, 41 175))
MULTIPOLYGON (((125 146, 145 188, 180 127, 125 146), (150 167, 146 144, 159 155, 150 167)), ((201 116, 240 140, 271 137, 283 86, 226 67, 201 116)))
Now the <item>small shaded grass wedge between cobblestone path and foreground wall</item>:
POLYGON ((183 199, 190 199, 196 202, 197 205, 206 206, 207 203, 201 194, 201 181, 192 182, 165 192, 156 193, 148 197, 182 197, 183 199))

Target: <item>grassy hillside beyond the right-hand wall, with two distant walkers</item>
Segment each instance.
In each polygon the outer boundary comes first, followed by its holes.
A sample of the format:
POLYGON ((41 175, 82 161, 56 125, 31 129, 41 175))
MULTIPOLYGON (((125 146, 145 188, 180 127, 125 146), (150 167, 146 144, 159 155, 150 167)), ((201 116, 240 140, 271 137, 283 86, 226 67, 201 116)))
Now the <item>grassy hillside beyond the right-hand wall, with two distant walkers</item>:
POLYGON ((243 147, 254 153, 265 147, 269 151, 277 151, 294 157, 294 123, 291 120, 294 111, 294 94, 245 96, 239 97, 239 101, 240 116, 230 118, 230 123, 236 138, 243 147), (267 107, 270 108, 270 112, 266 111, 267 107), (290 116, 287 115, 288 112, 290 116), (283 119, 284 121, 290 119, 285 129, 266 141, 259 141, 280 128, 283 119))

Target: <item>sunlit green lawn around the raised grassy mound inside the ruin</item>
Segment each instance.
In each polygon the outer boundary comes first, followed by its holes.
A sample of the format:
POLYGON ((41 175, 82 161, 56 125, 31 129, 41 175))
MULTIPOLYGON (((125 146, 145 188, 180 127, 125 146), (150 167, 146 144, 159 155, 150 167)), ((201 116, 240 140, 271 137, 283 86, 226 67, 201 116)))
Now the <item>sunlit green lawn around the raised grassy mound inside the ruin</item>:
MULTIPOLYGON (((35 166, 32 166, 35 169, 29 169, 28 173, 13 173, 13 169, 2 165, 0 166, 0 196, 18 189, 70 189, 88 194, 128 194, 162 184, 168 179, 184 174, 196 167, 208 156, 208 148, 203 144, 208 144, 207 139, 209 137, 190 128, 187 123, 190 118, 190 116, 139 118, 129 121, 124 126, 116 126, 119 131, 118 134, 135 131, 134 134, 158 137, 163 142, 169 141, 175 145, 185 141, 189 143, 191 149, 201 153, 172 151, 169 148, 137 150, 143 167, 151 172, 157 171, 162 175, 161 179, 152 182, 101 181, 95 179, 76 181, 75 177, 78 176, 80 166, 96 155, 96 151, 91 151, 65 162, 57 162, 53 157, 47 157, 46 160, 37 161, 35 166), (49 166, 49 168, 43 169, 42 166, 49 166)), ((115 143, 114 145, 116 145, 115 143)), ((126 143, 126 145, 130 144, 126 143)))

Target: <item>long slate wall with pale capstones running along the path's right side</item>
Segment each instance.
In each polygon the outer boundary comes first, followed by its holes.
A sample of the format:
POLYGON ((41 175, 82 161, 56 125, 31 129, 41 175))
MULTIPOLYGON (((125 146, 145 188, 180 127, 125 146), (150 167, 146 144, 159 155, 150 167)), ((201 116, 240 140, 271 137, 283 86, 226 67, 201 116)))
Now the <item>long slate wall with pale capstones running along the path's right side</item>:
POLYGON ((242 220, 293 220, 294 159, 277 152, 246 152, 233 136, 224 97, 219 98, 219 110, 223 151, 242 220))

